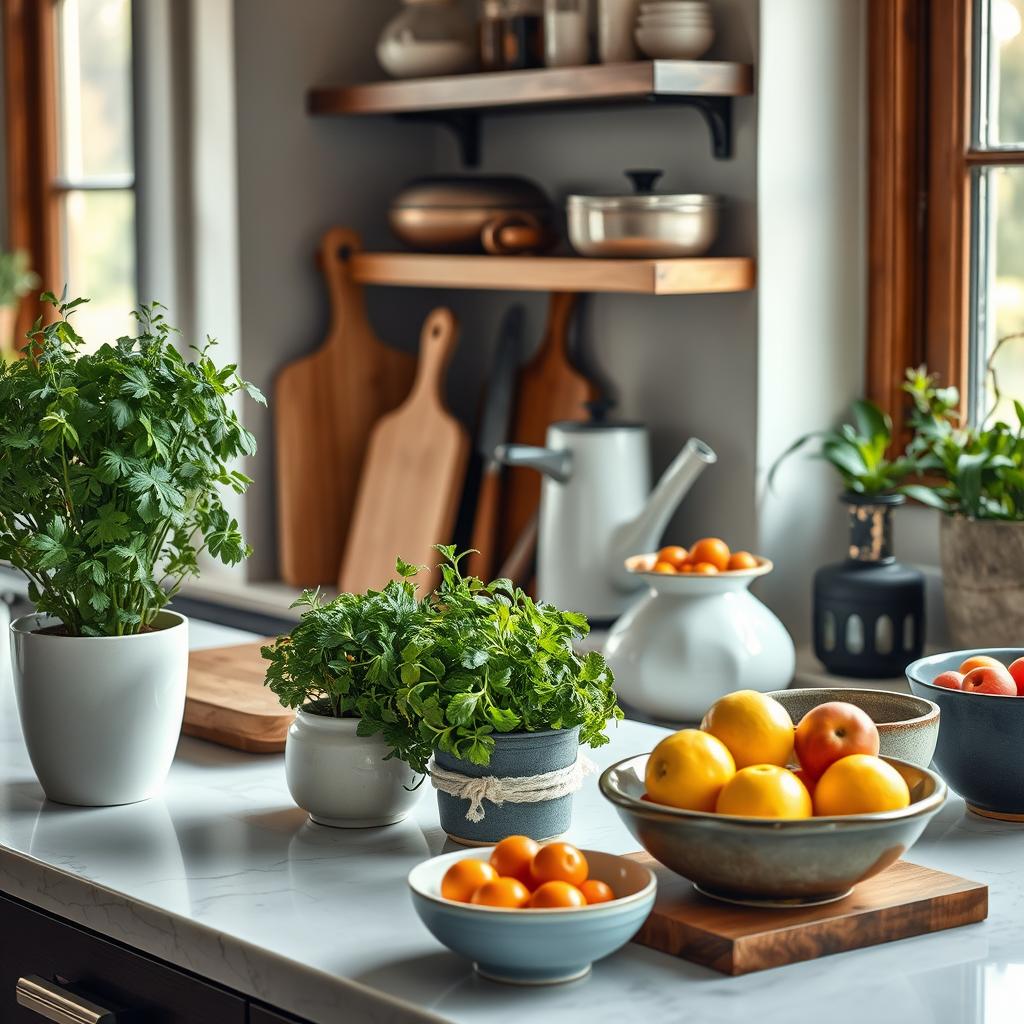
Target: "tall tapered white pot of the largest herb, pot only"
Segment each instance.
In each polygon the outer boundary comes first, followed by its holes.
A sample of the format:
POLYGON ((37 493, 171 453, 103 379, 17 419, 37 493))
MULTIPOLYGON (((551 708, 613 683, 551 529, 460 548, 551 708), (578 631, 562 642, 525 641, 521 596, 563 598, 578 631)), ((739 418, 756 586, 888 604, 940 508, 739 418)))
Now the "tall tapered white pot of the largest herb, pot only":
POLYGON ((188 621, 161 611, 151 633, 65 637, 48 615, 10 625, 25 743, 49 800, 134 804, 164 784, 181 732, 188 621))

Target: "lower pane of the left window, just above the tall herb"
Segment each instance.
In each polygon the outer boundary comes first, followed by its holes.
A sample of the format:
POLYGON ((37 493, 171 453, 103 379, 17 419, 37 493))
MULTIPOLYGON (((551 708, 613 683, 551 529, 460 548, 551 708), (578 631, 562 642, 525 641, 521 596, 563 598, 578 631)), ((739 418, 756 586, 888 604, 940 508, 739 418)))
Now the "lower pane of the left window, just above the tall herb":
POLYGON ((72 191, 65 197, 68 294, 90 301, 75 329, 91 349, 134 334, 135 195, 72 191))

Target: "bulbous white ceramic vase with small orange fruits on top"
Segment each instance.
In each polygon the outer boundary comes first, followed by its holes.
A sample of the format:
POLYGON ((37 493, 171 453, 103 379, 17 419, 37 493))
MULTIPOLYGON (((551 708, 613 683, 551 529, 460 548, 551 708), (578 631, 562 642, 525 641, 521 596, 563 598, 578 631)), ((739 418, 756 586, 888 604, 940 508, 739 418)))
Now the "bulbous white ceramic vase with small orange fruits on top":
POLYGON ((653 572, 652 555, 634 555, 627 569, 648 593, 611 628, 604 653, 615 690, 632 710, 658 721, 698 722, 733 690, 784 689, 796 649, 778 618, 750 586, 771 572, 757 566, 720 572, 653 572))

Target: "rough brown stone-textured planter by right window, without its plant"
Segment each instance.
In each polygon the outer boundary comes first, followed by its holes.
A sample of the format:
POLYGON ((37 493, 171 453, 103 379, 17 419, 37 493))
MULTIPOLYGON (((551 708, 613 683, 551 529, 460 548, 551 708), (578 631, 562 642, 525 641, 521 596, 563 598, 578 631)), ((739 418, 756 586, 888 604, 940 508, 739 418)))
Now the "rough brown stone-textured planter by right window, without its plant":
POLYGON ((1021 646, 1024 522, 943 516, 939 547, 952 646, 1021 646))

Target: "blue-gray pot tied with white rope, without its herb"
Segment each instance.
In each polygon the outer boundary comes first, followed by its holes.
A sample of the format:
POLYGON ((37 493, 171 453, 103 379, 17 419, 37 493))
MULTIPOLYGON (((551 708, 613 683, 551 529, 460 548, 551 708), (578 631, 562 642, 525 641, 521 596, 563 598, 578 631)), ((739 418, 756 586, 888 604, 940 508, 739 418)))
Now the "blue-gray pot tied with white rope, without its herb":
MULTIPOLYGON (((549 729, 544 732, 506 732, 495 734, 495 750, 485 767, 434 751, 434 761, 445 771, 459 772, 471 778, 519 778, 543 775, 545 772, 568 768, 580 753, 580 728, 549 729)), ((536 804, 513 804, 500 807, 483 801, 483 818, 470 821, 466 817, 469 801, 460 800, 437 791, 437 810, 441 827, 456 843, 465 846, 500 843, 508 836, 529 836, 538 842, 554 839, 568 831, 572 821, 572 796, 558 797, 536 804)))

